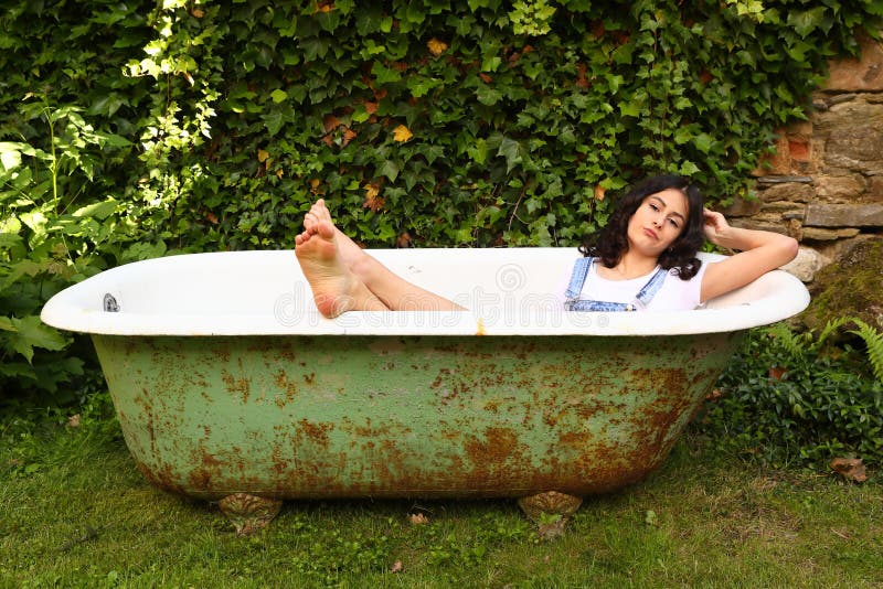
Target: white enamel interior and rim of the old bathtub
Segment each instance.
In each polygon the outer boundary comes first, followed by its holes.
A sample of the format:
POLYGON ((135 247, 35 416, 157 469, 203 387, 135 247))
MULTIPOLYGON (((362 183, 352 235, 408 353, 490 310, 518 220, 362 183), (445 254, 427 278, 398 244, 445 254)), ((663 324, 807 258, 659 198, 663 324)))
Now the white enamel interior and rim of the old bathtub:
MULTIPOLYGON (((369 250, 405 279, 453 299, 464 312, 319 315, 291 250, 170 256, 102 272, 56 294, 47 324, 143 335, 439 334, 657 335, 735 331, 779 321, 809 302, 804 285, 776 270, 703 309, 573 313, 561 307, 575 248, 369 250), (105 311, 109 294, 118 312, 105 311)), ((720 258, 701 254, 705 261, 720 258)))

